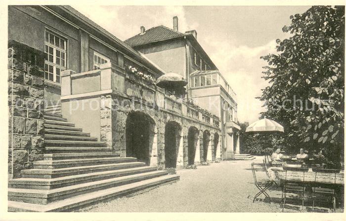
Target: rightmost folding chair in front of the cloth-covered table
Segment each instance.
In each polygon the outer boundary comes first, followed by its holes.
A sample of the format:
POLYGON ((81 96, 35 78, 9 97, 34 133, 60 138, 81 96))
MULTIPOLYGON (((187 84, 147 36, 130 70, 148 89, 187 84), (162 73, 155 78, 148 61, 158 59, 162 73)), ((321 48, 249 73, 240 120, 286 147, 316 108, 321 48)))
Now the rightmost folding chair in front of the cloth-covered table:
POLYGON ((315 182, 313 183, 312 186, 312 212, 314 211, 315 207, 315 201, 318 202, 329 202, 333 203, 333 209, 334 213, 336 210, 336 200, 335 200, 335 188, 331 187, 330 183, 327 182, 316 182, 317 174, 334 174, 334 185, 336 184, 336 179, 337 179, 337 173, 340 172, 340 170, 331 170, 331 169, 321 169, 321 168, 313 168, 313 172, 315 172, 315 182), (322 196, 327 196, 328 198, 330 197, 330 200, 321 200, 318 199, 316 200, 316 193, 322 196))

